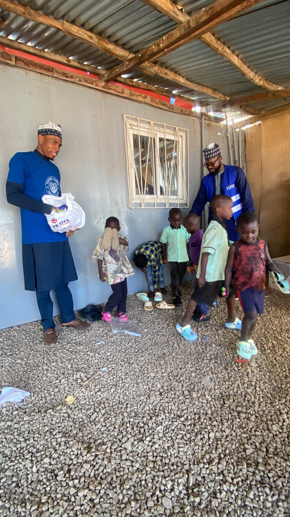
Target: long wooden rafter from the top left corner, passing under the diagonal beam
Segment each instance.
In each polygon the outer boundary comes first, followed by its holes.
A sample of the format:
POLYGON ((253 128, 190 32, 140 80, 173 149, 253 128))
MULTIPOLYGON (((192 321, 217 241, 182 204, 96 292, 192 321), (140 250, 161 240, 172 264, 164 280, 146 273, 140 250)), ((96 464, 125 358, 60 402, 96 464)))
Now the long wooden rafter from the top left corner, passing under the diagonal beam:
MULTIPOLYGON (((106 52, 114 57, 117 57, 122 61, 135 57, 134 54, 121 49, 120 47, 118 47, 118 45, 110 43, 104 38, 92 34, 89 31, 85 31, 85 29, 82 29, 80 27, 77 27, 76 25, 73 25, 65 21, 59 22, 58 20, 55 20, 50 16, 46 16, 45 14, 41 14, 38 11, 30 9, 29 7, 24 7, 19 4, 15 4, 14 2, 11 2, 11 0, 0 0, 0 8, 5 9, 8 12, 12 12, 13 14, 18 14, 19 16, 22 16, 23 18, 26 18, 28 20, 40 23, 41 25, 55 28, 63 34, 66 34, 67 36, 78 39, 79 41, 83 41, 84 43, 91 45, 96 49, 100 49, 103 52, 106 52)), ((228 99, 227 96, 221 94, 217 90, 208 88, 198 83, 187 81, 181 75, 174 72, 170 72, 166 68, 154 65, 153 63, 142 63, 139 68, 149 75, 156 73, 158 75, 161 75, 162 77, 171 80, 172 82, 180 84, 181 86, 186 86, 187 88, 205 93, 206 95, 210 95, 214 98, 221 100, 228 99)))

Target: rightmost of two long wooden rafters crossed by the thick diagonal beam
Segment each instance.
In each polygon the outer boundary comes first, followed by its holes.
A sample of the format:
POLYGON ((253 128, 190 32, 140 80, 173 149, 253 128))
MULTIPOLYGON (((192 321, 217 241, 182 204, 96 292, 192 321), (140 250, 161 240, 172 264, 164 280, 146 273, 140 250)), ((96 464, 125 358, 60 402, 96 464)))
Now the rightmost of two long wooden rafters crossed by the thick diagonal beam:
MULTIPOLYGON (((182 9, 176 7, 171 0, 141 0, 143 4, 149 5, 156 11, 162 12, 171 20, 174 20, 176 23, 181 24, 190 19, 190 16, 186 14, 182 9)), ((206 33, 201 36, 200 41, 205 43, 207 47, 210 47, 214 52, 219 54, 223 59, 228 61, 233 67, 235 67, 241 74, 245 75, 249 81, 255 83, 262 88, 266 88, 268 90, 280 90, 283 89, 283 86, 279 84, 272 83, 271 81, 267 81, 261 77, 261 75, 253 72, 241 59, 239 59, 228 47, 226 47, 223 43, 221 43, 217 38, 215 38, 211 33, 206 33)))

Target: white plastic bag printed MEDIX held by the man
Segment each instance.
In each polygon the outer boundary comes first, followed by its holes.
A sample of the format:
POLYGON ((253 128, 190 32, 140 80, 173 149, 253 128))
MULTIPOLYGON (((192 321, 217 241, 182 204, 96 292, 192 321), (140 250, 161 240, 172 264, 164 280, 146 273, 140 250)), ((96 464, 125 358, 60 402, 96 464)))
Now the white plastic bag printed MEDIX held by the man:
POLYGON ((45 214, 53 232, 63 233, 84 226, 86 222, 85 212, 74 201, 74 196, 71 193, 62 194, 59 197, 43 195, 42 201, 48 205, 60 207, 60 209, 53 210, 51 214, 45 214))

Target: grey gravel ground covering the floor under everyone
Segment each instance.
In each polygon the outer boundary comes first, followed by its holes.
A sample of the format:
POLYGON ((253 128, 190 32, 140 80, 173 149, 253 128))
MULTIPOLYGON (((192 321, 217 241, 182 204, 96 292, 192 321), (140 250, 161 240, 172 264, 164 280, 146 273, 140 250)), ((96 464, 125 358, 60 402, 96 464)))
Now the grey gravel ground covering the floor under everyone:
POLYGON ((267 294, 249 364, 224 300, 195 343, 175 330, 184 309, 136 296, 142 337, 58 318, 51 346, 39 322, 1 331, 2 386, 30 392, 0 408, 2 517, 289 516, 289 304, 267 294))

